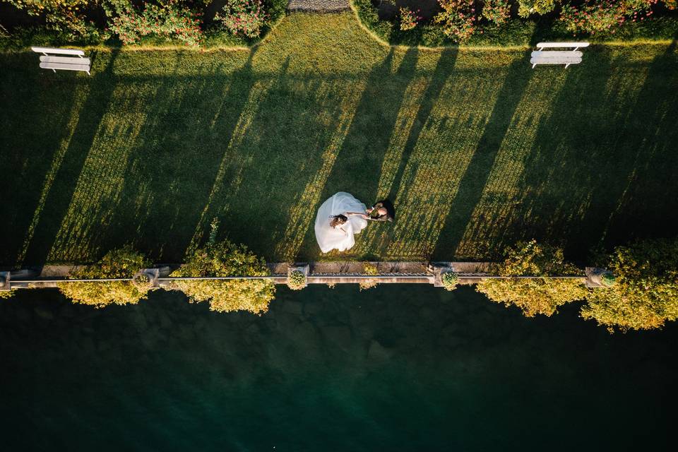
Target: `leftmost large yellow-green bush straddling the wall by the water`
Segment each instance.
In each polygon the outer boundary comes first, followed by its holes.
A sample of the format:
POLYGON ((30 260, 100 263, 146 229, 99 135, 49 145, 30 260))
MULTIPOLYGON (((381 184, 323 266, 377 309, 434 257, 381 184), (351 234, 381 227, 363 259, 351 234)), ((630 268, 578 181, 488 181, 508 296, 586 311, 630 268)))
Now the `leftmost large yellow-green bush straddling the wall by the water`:
MULTIPOLYGON (((71 279, 132 278, 141 268, 150 266, 148 259, 132 246, 109 251, 99 262, 78 270, 71 279)), ((131 281, 97 283, 61 283, 59 291, 76 303, 105 307, 109 304, 133 304, 144 299, 148 287, 131 281)))

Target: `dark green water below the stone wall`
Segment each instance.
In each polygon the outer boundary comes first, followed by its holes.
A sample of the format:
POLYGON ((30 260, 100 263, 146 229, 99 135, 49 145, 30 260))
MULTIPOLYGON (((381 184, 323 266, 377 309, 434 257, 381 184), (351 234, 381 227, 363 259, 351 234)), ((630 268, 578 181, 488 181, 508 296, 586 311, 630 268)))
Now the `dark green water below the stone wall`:
POLYGON ((611 336, 576 307, 524 319, 468 287, 283 287, 261 317, 21 291, 0 300, 0 447, 674 449, 677 337, 611 336))

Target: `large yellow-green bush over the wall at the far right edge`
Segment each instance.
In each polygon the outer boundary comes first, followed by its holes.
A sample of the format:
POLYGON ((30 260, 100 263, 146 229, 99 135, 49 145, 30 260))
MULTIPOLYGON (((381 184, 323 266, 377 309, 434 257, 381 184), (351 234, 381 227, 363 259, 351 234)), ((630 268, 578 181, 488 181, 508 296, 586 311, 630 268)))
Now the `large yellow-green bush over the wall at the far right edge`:
POLYGON ((605 266, 614 285, 590 291, 581 309, 609 331, 649 330, 678 318, 678 240, 619 246, 605 266))

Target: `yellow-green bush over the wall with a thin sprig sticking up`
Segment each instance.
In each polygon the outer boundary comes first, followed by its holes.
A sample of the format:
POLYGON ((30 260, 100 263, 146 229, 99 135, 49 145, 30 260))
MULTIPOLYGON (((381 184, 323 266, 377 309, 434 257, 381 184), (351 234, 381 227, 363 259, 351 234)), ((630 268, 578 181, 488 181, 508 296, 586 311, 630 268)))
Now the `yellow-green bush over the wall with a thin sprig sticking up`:
MULTIPOLYGON (((210 240, 201 249, 186 257, 186 263, 174 271, 177 277, 266 276, 266 262, 248 251, 244 245, 228 240, 216 242, 213 222, 210 240)), ((172 282, 173 290, 181 290, 191 302, 210 302, 218 312, 250 311, 263 314, 275 296, 272 280, 180 280, 172 282)))

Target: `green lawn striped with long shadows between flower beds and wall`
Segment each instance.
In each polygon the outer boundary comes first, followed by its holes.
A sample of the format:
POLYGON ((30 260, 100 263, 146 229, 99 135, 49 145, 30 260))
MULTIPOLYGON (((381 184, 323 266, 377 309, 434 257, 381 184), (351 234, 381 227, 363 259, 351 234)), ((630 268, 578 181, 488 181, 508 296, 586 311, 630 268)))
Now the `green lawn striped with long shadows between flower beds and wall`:
POLYGON ((93 76, 0 54, 0 263, 132 242, 182 261, 210 220, 268 260, 484 259, 535 237, 570 258, 678 225, 678 50, 382 47, 351 13, 292 14, 252 52, 94 52, 93 76), (336 191, 390 196, 319 256, 336 191))

